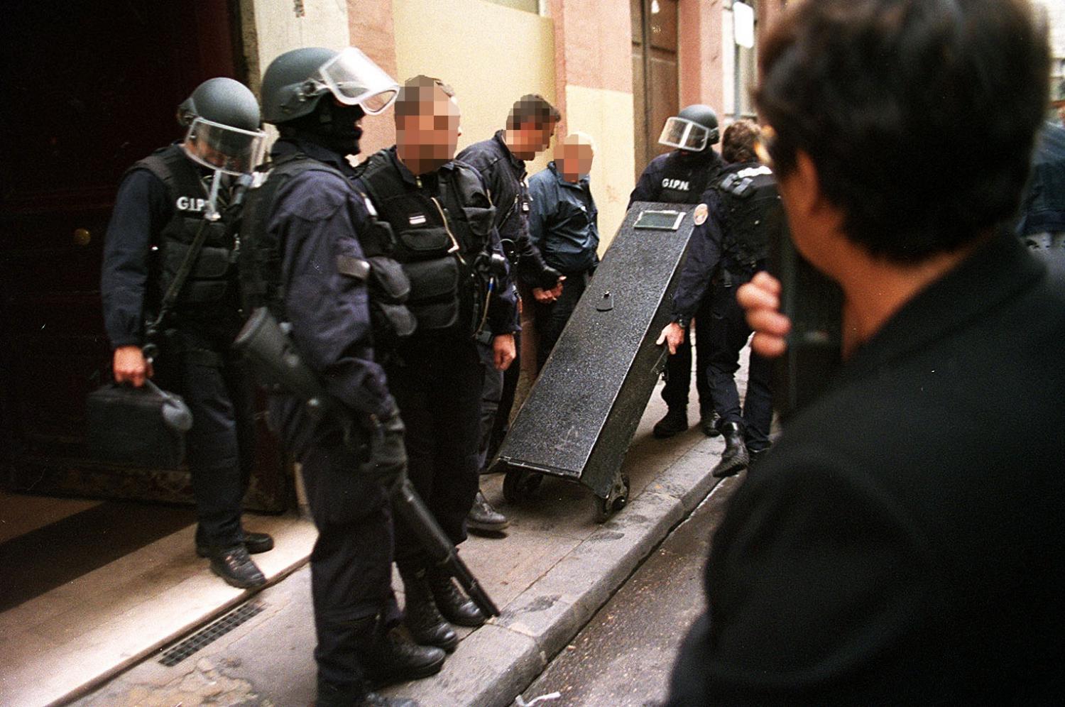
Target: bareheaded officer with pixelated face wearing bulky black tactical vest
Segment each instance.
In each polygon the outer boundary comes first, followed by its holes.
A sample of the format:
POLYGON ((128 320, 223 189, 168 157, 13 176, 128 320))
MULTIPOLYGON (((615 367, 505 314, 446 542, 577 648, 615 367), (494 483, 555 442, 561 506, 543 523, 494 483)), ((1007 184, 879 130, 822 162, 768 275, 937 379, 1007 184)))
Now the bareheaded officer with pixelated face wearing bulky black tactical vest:
MULTIPOLYGON (((453 160, 459 136, 454 92, 415 77, 396 101, 396 145, 373 154, 357 180, 395 233, 394 258, 410 278, 414 334, 386 366, 407 427, 409 476, 456 545, 478 486, 478 339, 504 371, 514 358, 517 302, 477 170, 453 160)), ((447 621, 478 626, 484 614, 452 578, 429 566, 415 538, 396 527, 396 564, 406 589, 406 623, 416 641, 455 648, 447 621), (447 621, 444 621, 446 618, 447 621)))

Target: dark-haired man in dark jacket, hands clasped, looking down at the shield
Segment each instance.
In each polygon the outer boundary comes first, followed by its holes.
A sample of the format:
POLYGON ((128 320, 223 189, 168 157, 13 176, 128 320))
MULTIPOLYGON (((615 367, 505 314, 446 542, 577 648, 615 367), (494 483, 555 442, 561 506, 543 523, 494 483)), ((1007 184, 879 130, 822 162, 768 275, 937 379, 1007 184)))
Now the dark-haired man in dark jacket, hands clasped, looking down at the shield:
MULTIPOLYGON (((528 94, 514 101, 505 130, 489 139, 474 143, 458 154, 458 160, 480 172, 488 182, 495 204, 495 227, 517 281, 530 292, 535 301, 551 302, 562 294, 562 278, 548 267, 540 250, 529 240, 529 195, 525 162, 551 145, 551 136, 561 115, 542 96, 528 94)), ((518 284, 515 282, 515 285, 518 284)), ((480 465, 495 456, 510 425, 518 378, 521 375, 521 339, 514 332, 519 356, 503 373, 487 371, 481 398, 480 465)), ((482 351, 488 354, 488 348, 482 351)), ((509 525, 505 515, 492 508, 485 495, 477 493, 468 525, 476 530, 496 531, 509 525)))

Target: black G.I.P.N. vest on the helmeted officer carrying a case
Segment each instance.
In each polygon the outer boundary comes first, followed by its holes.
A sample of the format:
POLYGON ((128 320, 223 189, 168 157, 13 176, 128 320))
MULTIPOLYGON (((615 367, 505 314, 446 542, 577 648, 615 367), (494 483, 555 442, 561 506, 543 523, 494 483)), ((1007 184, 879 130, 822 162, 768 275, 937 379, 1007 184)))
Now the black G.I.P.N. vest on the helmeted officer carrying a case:
POLYGON ((163 227, 159 242, 152 244, 158 251, 152 261, 151 280, 155 286, 150 301, 158 305, 162 300, 196 233, 206 224, 207 240, 181 287, 174 311, 178 316, 209 315, 217 312, 218 307, 235 312, 240 307, 233 265, 236 240, 227 216, 204 221, 210 181, 204 182, 201 170, 178 145, 155 150, 130 167, 131 170, 141 168, 148 169, 166 184, 174 207, 174 217, 163 227))

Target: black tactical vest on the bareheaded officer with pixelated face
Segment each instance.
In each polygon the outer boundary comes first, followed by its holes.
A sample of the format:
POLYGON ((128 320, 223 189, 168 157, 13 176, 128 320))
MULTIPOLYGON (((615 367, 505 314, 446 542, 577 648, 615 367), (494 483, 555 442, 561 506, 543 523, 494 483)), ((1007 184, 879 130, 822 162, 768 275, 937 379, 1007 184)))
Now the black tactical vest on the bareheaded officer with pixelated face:
POLYGON ((391 150, 360 165, 360 175, 395 234, 393 257, 410 279, 407 307, 419 331, 473 333, 484 312, 480 272, 475 265, 491 248, 495 209, 477 171, 459 162, 437 170, 430 188, 404 180, 391 150))

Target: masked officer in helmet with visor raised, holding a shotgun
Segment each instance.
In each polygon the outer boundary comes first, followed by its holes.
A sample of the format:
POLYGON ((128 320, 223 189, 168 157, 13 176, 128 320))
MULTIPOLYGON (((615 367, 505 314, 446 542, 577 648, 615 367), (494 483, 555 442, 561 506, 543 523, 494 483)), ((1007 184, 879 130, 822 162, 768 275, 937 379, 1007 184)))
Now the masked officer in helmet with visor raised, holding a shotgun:
MULTIPOLYGON (((371 688, 431 675, 444 661, 439 648, 395 630, 400 613, 391 587, 386 486, 403 473, 406 455, 373 340, 404 327, 402 316, 389 330, 372 315, 380 303, 373 287, 391 272, 391 234, 355 190, 346 159, 359 151, 363 115, 384 111, 396 89, 355 48, 296 49, 275 59, 263 76, 263 113, 280 139, 271 170, 247 196, 242 228, 249 305, 265 305, 290 323, 309 367, 360 422, 345 428, 311 414, 296 397, 271 398, 271 418, 302 464, 318 529, 311 553, 318 705, 409 705, 371 688)), ((392 284, 393 291, 407 285, 392 284)), ((402 302, 391 309, 405 311, 402 302)))

